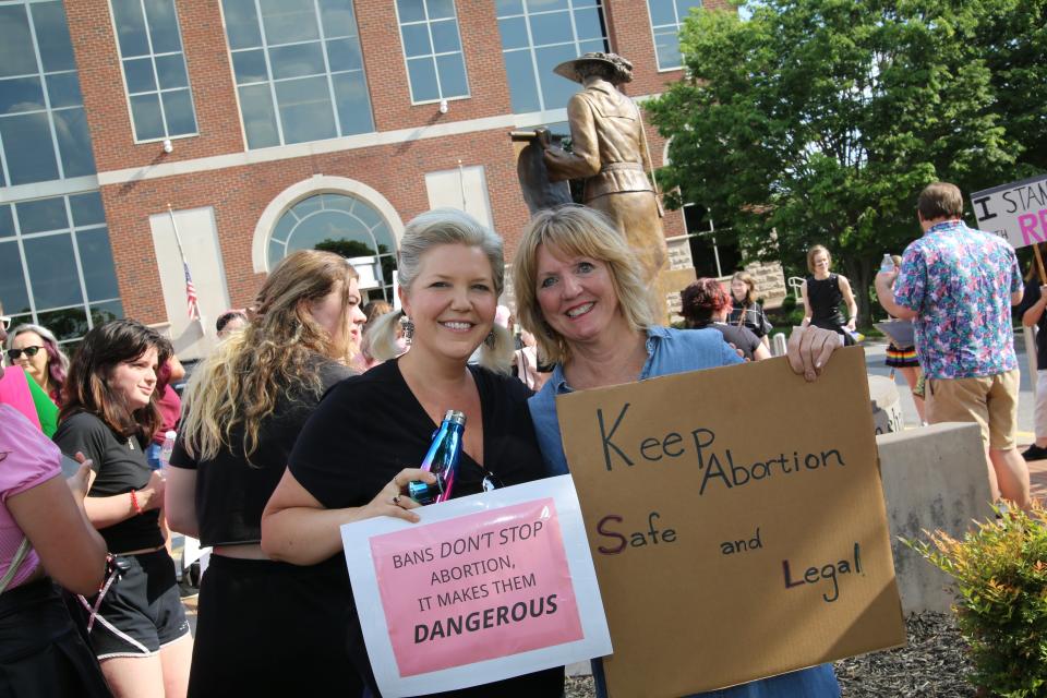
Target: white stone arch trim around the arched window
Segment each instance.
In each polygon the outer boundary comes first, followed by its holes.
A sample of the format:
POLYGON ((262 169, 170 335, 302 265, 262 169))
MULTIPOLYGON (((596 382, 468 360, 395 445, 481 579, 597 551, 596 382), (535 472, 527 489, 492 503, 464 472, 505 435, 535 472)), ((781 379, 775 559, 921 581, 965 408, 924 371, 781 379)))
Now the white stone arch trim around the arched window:
POLYGON ((389 226, 389 231, 393 232, 393 239, 397 244, 404 237, 404 221, 400 220, 400 215, 396 213, 393 204, 376 190, 348 177, 313 174, 311 178, 291 184, 277 194, 262 212, 262 216, 258 217, 258 222, 254 227, 254 237, 251 240, 251 263, 255 274, 269 273, 269 236, 273 228, 276 227, 276 221, 288 208, 315 194, 350 194, 362 198, 385 218, 385 222, 389 226))

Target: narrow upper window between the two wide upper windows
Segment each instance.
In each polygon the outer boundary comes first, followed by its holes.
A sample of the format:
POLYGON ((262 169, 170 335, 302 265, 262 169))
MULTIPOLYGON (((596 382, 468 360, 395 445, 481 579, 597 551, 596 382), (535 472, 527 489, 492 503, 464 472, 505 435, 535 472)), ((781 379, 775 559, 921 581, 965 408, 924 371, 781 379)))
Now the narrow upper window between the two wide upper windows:
POLYGON ((469 96, 454 0, 396 0, 414 104, 469 96))

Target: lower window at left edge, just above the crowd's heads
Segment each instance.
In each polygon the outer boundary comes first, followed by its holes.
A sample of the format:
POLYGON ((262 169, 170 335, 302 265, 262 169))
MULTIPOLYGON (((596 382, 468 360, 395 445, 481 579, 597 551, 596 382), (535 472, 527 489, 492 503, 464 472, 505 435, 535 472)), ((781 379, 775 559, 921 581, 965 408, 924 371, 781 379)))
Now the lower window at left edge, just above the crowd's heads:
POLYGON ((63 342, 123 317, 98 192, 0 205, 0 301, 63 342))

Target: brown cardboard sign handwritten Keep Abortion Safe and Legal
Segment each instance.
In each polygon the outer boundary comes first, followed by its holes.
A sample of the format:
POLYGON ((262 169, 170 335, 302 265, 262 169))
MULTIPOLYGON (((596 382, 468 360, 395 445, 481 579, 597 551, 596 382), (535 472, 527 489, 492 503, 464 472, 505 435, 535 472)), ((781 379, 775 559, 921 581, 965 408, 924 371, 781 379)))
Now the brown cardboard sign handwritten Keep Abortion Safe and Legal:
POLYGON ((562 395, 612 698, 905 642, 861 348, 562 395))

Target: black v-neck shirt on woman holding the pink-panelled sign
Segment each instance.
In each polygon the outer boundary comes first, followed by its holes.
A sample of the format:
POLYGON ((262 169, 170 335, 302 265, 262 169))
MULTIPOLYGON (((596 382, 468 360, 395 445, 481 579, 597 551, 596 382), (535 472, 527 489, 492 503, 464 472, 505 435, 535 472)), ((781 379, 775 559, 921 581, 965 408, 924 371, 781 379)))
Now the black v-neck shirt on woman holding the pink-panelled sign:
MULTIPOLYGON (((484 467, 505 486, 545 477, 527 409, 531 392, 512 376, 479 366, 469 366, 469 371, 480 393, 484 467)), ((386 361, 327 393, 302 429, 288 468, 326 508, 363 506, 400 470, 421 467, 436 428, 397 362, 386 361)), ((480 466, 462 453, 458 467, 452 498, 482 492, 480 466)), ((349 590, 346 598, 351 605, 349 590)), ((338 601, 333 599, 329 607, 337 607, 338 601)), ((347 650, 372 693, 378 695, 354 606, 349 609, 347 650)), ((564 670, 556 667, 438 696, 559 698, 563 691, 564 670)))

